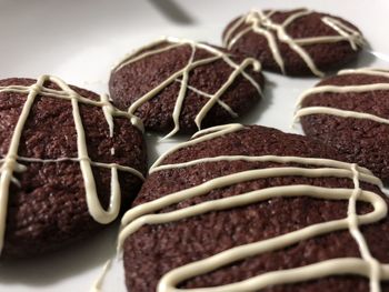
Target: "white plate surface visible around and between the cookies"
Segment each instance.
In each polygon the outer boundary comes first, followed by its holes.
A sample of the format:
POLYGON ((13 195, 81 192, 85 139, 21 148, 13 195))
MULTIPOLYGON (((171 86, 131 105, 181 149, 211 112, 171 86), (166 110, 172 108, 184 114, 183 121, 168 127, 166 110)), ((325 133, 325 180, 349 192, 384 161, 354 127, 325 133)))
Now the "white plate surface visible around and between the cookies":
MULTIPOLYGON (((373 48, 356 66, 389 67, 389 1, 271 1, 271 8, 310 7, 347 18, 373 48)), ((161 34, 220 44, 225 24, 266 1, 4 1, 0 0, 0 78, 58 75, 68 83, 99 93, 108 91, 111 66, 124 53, 161 34)), ((266 73, 265 99, 246 123, 290 128, 295 102, 316 78, 286 78, 266 73)), ((150 162, 177 140, 157 143, 148 137, 150 162)), ((0 263, 0 291, 89 291, 107 259, 114 254, 117 226, 87 242, 39 259, 0 263)), ((103 291, 126 291, 122 263, 110 270, 103 291)))

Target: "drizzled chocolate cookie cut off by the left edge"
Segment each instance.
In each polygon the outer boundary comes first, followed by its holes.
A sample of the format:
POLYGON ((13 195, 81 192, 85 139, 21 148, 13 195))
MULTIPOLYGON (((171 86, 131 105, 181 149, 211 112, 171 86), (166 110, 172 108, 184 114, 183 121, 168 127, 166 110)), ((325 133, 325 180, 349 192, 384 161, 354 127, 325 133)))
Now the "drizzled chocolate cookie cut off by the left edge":
POLYGON ((146 172, 137 118, 51 75, 1 80, 0 117, 2 258, 90 238, 128 209, 146 172))

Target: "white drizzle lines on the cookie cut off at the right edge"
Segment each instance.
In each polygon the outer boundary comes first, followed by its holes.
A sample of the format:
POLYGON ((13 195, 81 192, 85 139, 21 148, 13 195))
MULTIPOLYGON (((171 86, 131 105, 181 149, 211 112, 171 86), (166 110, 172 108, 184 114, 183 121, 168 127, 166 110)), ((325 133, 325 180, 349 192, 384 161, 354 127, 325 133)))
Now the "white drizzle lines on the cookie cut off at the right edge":
POLYGON ((321 93, 358 93, 358 92, 372 92, 377 90, 388 90, 389 91, 389 71, 377 69, 377 68, 359 68, 359 69, 347 69, 338 72, 339 75, 345 74, 367 74, 376 77, 388 78, 387 83, 372 83, 372 84, 357 84, 357 85, 320 85, 306 90, 298 99, 293 123, 303 115, 310 114, 330 114, 341 118, 352 118, 352 119, 365 119, 375 121, 378 123, 389 124, 389 119, 378 117, 372 113, 358 112, 350 110, 341 110, 331 107, 306 107, 301 108, 302 102, 310 97, 311 94, 321 94, 321 93))

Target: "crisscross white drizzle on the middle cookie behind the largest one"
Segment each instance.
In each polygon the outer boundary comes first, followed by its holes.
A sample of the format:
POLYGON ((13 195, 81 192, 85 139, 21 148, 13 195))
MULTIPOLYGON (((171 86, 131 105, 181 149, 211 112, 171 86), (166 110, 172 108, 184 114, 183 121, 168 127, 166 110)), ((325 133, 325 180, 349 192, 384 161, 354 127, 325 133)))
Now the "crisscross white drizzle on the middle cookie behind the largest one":
POLYGON ((255 71, 260 71, 260 63, 258 60, 253 58, 247 58, 245 59, 240 64, 237 64, 232 61, 230 56, 228 53, 225 53, 223 51, 213 48, 206 43, 194 42, 192 40, 186 40, 186 39, 178 39, 178 38, 171 38, 171 37, 163 37, 160 40, 157 40, 148 46, 144 46, 140 48, 139 50, 134 51, 133 53, 126 56, 119 63, 112 69, 113 72, 120 70, 121 68, 137 62, 141 59, 144 59, 147 57, 158 54, 164 51, 169 51, 172 49, 176 49, 178 47, 182 46, 190 46, 191 48, 191 54, 188 60, 188 63, 177 72, 172 73, 168 79, 163 80, 160 84, 158 84, 156 88, 140 97, 136 102, 133 102, 128 111, 133 114, 137 109, 139 109, 143 103, 146 103, 148 100, 154 98, 159 92, 161 92, 166 87, 171 84, 172 82, 179 82, 180 83, 180 90, 176 100, 172 118, 174 122, 174 128, 169 132, 164 138, 172 137, 180 130, 179 125, 179 118, 182 111, 182 103, 184 100, 184 97, 187 94, 188 90, 191 90, 202 97, 208 98, 208 102, 202 107, 202 109, 199 111, 199 113, 196 115, 194 122, 198 129, 201 129, 201 122, 209 112, 209 110, 218 103, 221 105, 226 111, 229 112, 229 114, 233 118, 237 118, 238 114, 223 101, 220 100, 222 94, 230 88, 232 82, 237 79, 238 75, 242 75, 246 78, 258 91, 258 93, 261 95, 261 89, 259 84, 251 78, 248 73, 245 72, 245 69, 249 66, 252 66, 255 71), (159 44, 168 44, 162 48, 152 49, 159 44), (171 44, 169 44, 171 43, 171 44), (206 50, 207 52, 213 54, 209 58, 203 58, 194 61, 194 54, 198 49, 206 50), (143 52, 144 51, 144 52, 143 52), (215 93, 207 93, 199 89, 196 89, 193 87, 189 85, 189 74, 192 70, 194 70, 198 67, 206 66, 212 62, 216 62, 218 60, 225 61, 229 67, 233 69, 231 74, 229 75, 228 80, 215 92, 215 93))

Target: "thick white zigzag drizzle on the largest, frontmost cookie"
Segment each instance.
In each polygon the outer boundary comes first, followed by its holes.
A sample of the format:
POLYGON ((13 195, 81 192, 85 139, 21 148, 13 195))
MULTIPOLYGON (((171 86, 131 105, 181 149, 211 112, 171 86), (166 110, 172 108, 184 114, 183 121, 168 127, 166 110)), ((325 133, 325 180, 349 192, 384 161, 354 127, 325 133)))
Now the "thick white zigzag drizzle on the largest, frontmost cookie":
POLYGON ((167 169, 187 168, 198 163, 212 161, 270 161, 277 163, 298 163, 308 164, 316 168, 303 167, 279 167, 269 169, 257 169, 237 172, 209 180, 202 184, 167 194, 154 201, 138 205, 129 210, 122 219, 122 230, 118 240, 118 252, 121 251, 122 244, 128 236, 131 236, 141 226, 146 224, 163 224, 176 222, 182 219, 192 218, 212 211, 229 210, 232 208, 249 205, 256 202, 266 201, 271 198, 288 197, 311 197, 325 200, 348 200, 348 215, 345 219, 309 225, 307 228, 275 236, 268 240, 253 242, 236 246, 210 258, 196 261, 183 266, 179 266, 164 274, 158 283, 158 292, 178 292, 183 291, 177 285, 191 278, 212 272, 219 268, 226 266, 237 261, 241 261, 266 252, 288 248, 300 241, 308 240, 318 235, 339 230, 349 230, 355 238, 360 253, 360 258, 340 258, 309 264, 296 269, 267 272, 250 279, 212 288, 186 289, 184 291, 196 292, 227 292, 227 291, 258 291, 269 285, 297 283, 302 281, 315 280, 323 276, 356 274, 367 276, 370 280, 370 291, 380 291, 380 281, 389 280, 389 264, 378 262, 370 253, 369 246, 359 230, 359 225, 371 224, 383 219, 388 213, 386 201, 378 194, 363 190, 359 181, 368 182, 382 187, 381 181, 373 174, 357 164, 350 164, 329 159, 301 158, 301 157, 247 157, 247 155, 222 155, 215 158, 203 158, 193 161, 162 164, 162 160, 170 153, 187 147, 211 140, 227 133, 245 129, 240 124, 227 124, 210 128, 200 131, 192 140, 177 145, 174 149, 163 154, 153 165, 151 172, 158 172, 167 169), (256 191, 241 193, 218 200, 206 201, 188 208, 182 208, 167 213, 156 213, 163 208, 177 204, 184 200, 203 195, 211 190, 233 185, 260 178, 276 178, 288 175, 301 175, 307 178, 347 178, 353 181, 353 189, 347 188, 323 188, 308 184, 272 187, 256 191), (358 215, 356 210, 357 201, 370 203, 373 211, 358 215))

